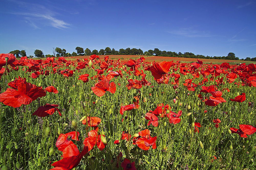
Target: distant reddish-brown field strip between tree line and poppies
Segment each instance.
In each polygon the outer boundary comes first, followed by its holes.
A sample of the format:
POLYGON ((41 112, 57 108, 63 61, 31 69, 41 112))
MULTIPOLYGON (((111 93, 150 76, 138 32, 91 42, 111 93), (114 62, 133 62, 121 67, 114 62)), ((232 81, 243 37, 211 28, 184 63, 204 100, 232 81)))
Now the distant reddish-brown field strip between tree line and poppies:
MULTIPOLYGON (((179 57, 160 57, 160 56, 137 56, 137 55, 100 55, 100 59, 104 59, 105 56, 109 56, 109 59, 118 60, 119 58, 121 61, 127 61, 129 58, 131 59, 138 59, 140 57, 144 57, 145 61, 152 62, 161 62, 161 61, 181 61, 181 62, 196 62, 196 58, 179 58, 179 57)), ((64 57, 66 59, 84 59, 89 58, 90 56, 72 56, 72 57, 64 57)), ((199 59, 204 63, 212 63, 212 64, 221 64, 223 62, 228 62, 230 64, 239 64, 239 63, 256 63, 255 61, 241 61, 241 60, 217 60, 217 59, 199 59)))

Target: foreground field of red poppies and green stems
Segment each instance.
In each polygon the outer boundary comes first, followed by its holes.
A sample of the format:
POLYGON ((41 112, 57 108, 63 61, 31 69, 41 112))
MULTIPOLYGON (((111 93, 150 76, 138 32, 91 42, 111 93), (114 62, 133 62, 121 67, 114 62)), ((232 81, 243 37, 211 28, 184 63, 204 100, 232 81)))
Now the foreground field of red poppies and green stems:
POLYGON ((256 64, 66 59, 0 54, 1 169, 255 169, 256 64))

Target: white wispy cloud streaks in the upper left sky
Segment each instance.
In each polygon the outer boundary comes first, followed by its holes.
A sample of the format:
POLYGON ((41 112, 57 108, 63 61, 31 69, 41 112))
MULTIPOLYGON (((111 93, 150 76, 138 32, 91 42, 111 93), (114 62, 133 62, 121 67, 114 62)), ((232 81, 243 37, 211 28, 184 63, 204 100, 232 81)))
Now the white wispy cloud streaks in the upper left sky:
POLYGON ((55 11, 50 10, 46 6, 16 0, 8 1, 16 3, 20 7, 19 10, 15 10, 15 12, 9 10, 8 13, 24 16, 25 22, 34 27, 35 29, 39 28, 40 24, 49 25, 58 29, 68 28, 68 26, 70 25, 63 20, 57 19, 56 15, 59 14, 55 11))

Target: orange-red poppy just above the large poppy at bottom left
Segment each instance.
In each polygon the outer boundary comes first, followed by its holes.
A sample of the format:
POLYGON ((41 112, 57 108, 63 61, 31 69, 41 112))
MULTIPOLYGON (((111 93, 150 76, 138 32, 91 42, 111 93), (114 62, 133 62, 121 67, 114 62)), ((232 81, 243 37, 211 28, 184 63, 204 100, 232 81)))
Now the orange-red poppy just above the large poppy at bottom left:
POLYGON ((56 147, 62 152, 70 143, 73 143, 71 139, 79 141, 79 135, 79 132, 76 131, 61 133, 56 141, 56 147))

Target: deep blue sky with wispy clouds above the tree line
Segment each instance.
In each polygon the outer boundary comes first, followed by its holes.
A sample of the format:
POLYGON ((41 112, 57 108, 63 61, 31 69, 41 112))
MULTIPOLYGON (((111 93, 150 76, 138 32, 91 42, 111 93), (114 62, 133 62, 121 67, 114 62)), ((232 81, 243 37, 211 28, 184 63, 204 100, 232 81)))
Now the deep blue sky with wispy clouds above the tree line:
POLYGON ((256 1, 2 0, 0 53, 159 48, 256 57, 256 1))

